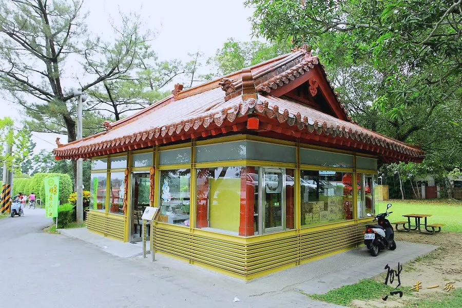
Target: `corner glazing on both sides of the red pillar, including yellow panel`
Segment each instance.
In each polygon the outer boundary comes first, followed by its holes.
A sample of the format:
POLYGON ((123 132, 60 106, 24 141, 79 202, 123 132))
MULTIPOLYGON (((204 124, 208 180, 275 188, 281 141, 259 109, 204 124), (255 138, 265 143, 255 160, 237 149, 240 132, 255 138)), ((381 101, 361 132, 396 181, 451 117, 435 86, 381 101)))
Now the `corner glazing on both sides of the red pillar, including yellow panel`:
POLYGON ((294 169, 197 169, 196 227, 252 236, 295 227, 294 169))

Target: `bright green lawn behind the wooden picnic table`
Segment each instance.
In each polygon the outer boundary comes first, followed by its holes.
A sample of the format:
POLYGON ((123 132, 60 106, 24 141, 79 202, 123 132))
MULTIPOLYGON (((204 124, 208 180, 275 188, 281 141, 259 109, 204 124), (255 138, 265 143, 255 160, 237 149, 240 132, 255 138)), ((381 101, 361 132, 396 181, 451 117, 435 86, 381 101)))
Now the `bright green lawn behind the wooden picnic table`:
MULTIPOLYGON (((443 223, 442 232, 462 233, 462 202, 448 200, 389 200, 378 202, 376 213, 383 213, 387 204, 392 203, 390 222, 406 220, 405 214, 431 214, 427 223, 443 223)), ((411 221, 412 223, 412 221, 411 221)))

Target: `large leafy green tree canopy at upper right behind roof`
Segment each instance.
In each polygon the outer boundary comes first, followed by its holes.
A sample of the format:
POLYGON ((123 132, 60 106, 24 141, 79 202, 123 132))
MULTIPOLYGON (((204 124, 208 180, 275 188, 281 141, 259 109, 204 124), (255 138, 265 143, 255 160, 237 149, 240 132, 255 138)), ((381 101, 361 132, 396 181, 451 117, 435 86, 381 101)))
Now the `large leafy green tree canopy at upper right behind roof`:
POLYGON ((248 0, 254 34, 309 44, 353 118, 427 152, 445 174, 462 161, 462 3, 248 0))

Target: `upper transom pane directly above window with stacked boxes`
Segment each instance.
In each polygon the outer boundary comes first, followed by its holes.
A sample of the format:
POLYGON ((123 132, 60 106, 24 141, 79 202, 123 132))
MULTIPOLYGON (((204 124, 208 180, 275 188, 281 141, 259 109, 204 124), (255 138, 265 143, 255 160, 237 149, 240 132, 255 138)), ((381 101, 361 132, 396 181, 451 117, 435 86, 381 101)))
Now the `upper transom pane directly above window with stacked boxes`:
POLYGON ((353 168, 353 155, 300 148, 300 163, 305 165, 353 168))

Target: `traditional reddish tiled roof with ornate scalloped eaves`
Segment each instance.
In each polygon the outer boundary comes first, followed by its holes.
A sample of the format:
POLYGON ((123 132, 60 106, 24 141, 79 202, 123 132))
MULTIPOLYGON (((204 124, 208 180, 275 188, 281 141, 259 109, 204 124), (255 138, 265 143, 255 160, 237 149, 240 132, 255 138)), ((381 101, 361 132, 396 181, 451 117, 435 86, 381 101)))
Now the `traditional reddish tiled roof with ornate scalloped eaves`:
MULTIPOLYGON (((123 120, 106 123, 106 131, 61 145, 53 152, 57 159, 88 158, 153 144, 239 132, 246 130, 245 121, 249 116, 257 116, 262 123, 277 120, 282 128, 293 127, 298 134, 296 137, 304 140, 318 135, 336 140, 335 146, 354 149, 356 145, 376 155, 393 157, 395 161, 421 160, 421 150, 358 126, 351 122, 346 112, 342 120, 272 95, 272 90, 296 81, 316 66, 320 67, 317 57, 302 49, 198 87, 181 90, 182 87, 176 86, 172 95, 155 105, 123 120), (252 94, 252 89, 258 93, 252 94)), ((325 77, 324 69, 320 69, 325 77)), ((314 94, 317 82, 327 81, 310 80, 310 91, 314 94)), ((329 87, 335 97, 332 86, 329 87)), ((338 100, 334 103, 344 110, 338 100)), ((265 127, 272 130, 274 125, 265 127)), ((281 128, 276 131, 281 132, 281 128)))

